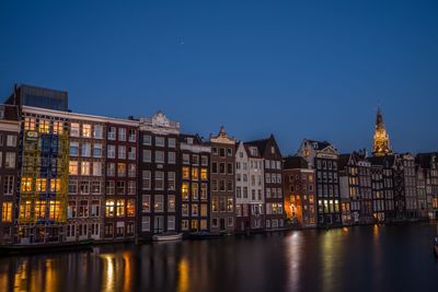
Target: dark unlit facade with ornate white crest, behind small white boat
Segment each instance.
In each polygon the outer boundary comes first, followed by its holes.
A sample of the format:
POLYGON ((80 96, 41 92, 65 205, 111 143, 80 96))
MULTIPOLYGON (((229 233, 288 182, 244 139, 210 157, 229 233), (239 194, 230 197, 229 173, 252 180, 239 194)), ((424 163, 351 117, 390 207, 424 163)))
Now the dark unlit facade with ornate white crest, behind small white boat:
POLYGON ((181 229, 180 124, 162 112, 140 118, 138 231, 140 240, 181 229))

